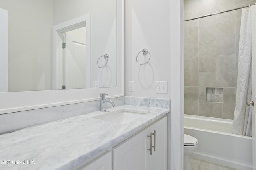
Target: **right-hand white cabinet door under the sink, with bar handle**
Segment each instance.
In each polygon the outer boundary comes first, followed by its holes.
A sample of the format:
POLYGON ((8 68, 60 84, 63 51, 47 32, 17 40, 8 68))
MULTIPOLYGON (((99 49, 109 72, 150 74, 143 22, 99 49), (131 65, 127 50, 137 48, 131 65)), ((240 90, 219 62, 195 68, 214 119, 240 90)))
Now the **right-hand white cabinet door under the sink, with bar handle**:
MULTIPOLYGON (((154 123, 149 127, 149 133, 154 133, 156 139, 155 150, 149 156, 149 169, 150 170, 166 170, 167 169, 167 117, 154 123)), ((154 139, 154 138, 153 138, 154 139)), ((152 140, 154 145, 154 140, 152 140)))

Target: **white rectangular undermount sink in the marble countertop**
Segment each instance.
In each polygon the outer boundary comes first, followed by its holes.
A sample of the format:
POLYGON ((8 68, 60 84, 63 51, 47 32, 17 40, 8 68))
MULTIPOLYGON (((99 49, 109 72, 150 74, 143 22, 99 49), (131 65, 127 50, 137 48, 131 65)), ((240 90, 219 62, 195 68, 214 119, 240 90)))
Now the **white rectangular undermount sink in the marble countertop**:
POLYGON ((126 123, 129 123, 130 121, 138 119, 139 117, 142 117, 148 113, 150 113, 150 111, 133 112, 133 111, 120 110, 120 111, 108 112, 103 115, 95 116, 92 118, 126 124, 126 123))

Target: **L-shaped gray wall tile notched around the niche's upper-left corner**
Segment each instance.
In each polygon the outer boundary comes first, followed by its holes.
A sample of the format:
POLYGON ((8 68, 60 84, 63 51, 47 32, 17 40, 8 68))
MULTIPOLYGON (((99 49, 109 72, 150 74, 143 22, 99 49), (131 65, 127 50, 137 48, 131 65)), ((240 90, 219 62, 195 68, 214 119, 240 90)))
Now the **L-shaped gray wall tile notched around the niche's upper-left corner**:
POLYGON ((216 72, 199 72, 199 102, 206 102, 206 87, 216 86, 216 72))

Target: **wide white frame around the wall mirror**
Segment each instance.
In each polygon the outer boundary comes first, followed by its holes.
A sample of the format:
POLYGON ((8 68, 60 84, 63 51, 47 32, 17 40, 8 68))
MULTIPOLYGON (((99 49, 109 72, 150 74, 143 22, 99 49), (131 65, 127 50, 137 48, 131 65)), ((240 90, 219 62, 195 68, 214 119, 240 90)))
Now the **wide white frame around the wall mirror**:
POLYGON ((117 0, 116 17, 116 87, 26 92, 1 92, 0 114, 124 96, 124 0, 117 0))

